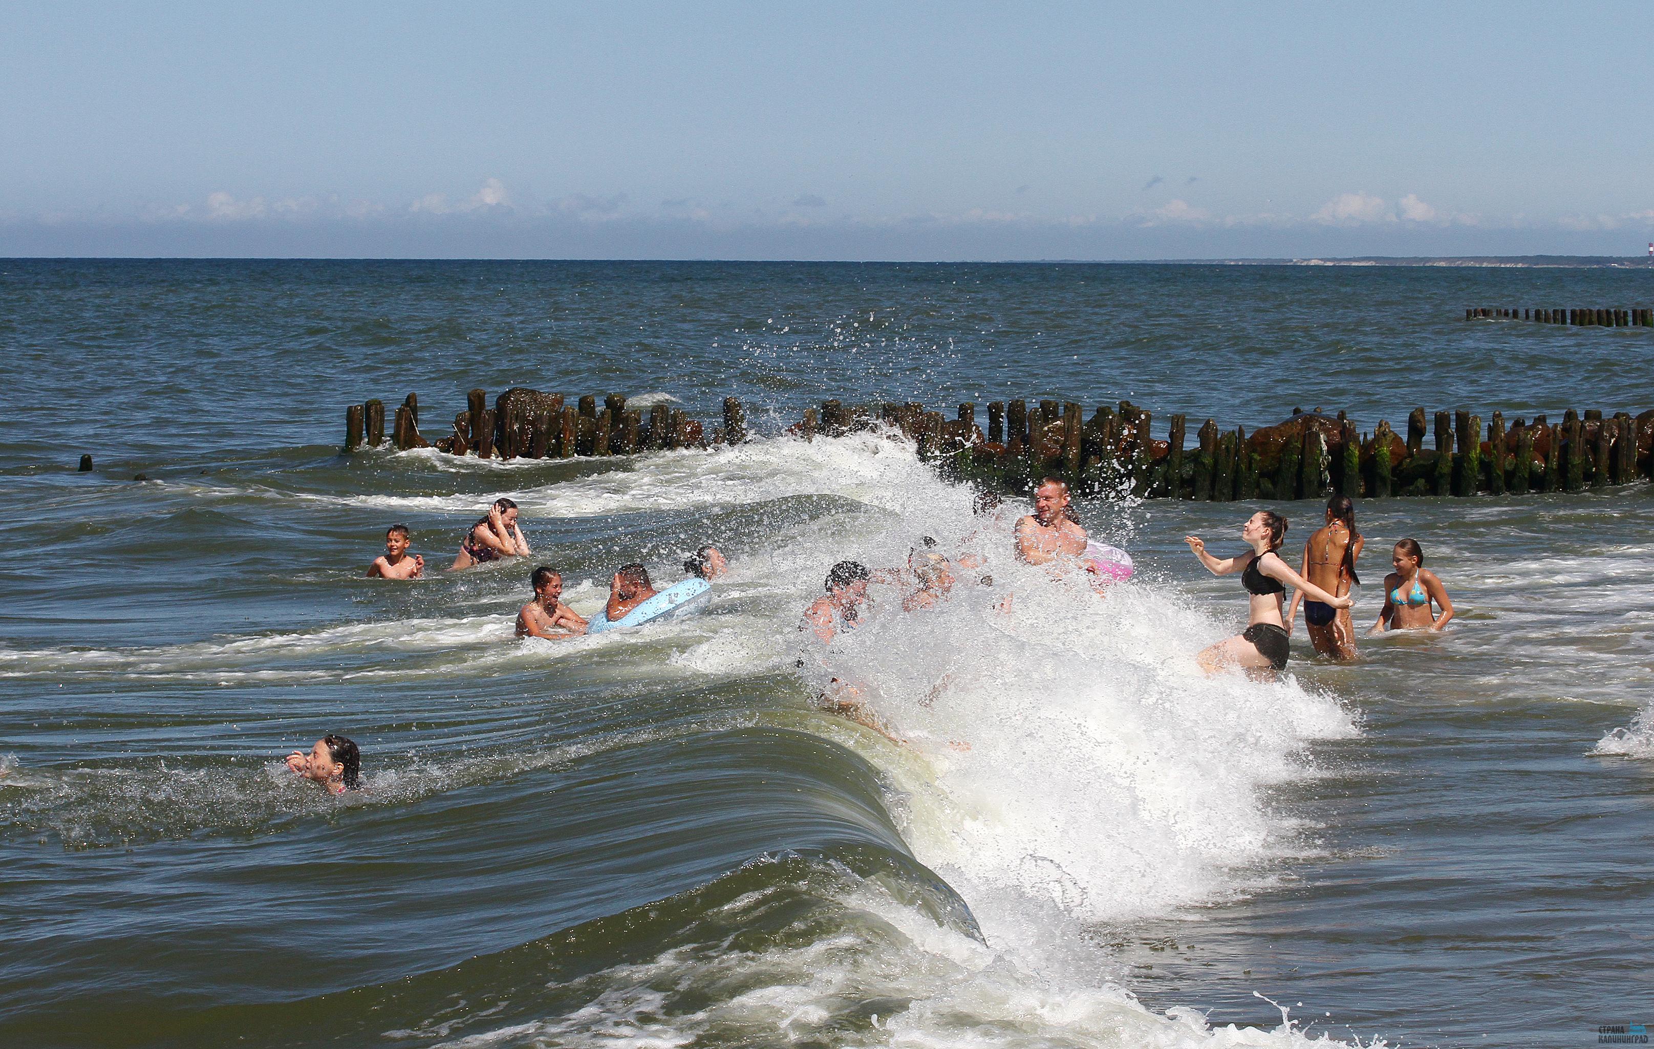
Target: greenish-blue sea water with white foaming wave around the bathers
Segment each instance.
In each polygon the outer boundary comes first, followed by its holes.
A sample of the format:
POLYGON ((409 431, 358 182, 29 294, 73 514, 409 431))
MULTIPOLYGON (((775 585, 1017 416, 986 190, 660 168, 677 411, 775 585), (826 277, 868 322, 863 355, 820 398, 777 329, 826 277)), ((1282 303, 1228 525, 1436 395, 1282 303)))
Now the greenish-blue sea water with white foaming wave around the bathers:
MULTIPOLYGON (((1123 397, 1249 429, 1654 407, 1649 273, 1250 266, 0 261, 0 1044, 1594 1044, 1654 1019, 1654 498, 1386 500, 1457 617, 1204 678, 1244 505, 1088 503, 1098 601, 824 397, 1123 397), (414 390, 724 395, 759 438, 607 462, 341 455, 414 390), (83 452, 91 473, 76 473, 83 452), (149 480, 134 481, 144 473, 149 480), (528 564, 430 569, 509 495, 528 564), (986 563, 830 649, 842 558, 986 563), (718 543, 706 612, 513 640, 718 543), (1011 614, 996 607, 1011 597, 1011 614), (799 663, 804 663, 802 667, 799 663), (862 682, 898 745, 819 708, 862 682), (367 789, 281 766, 337 731, 367 789)), ((1287 546, 1318 506, 1290 503, 1287 546)))

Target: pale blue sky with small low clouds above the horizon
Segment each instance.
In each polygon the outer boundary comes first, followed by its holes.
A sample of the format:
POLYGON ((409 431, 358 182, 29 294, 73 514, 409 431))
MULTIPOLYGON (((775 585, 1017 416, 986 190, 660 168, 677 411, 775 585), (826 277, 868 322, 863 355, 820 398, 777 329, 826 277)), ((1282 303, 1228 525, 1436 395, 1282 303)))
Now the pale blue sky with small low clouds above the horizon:
POLYGON ((0 255, 1641 255, 1654 5, 0 8, 0 255))

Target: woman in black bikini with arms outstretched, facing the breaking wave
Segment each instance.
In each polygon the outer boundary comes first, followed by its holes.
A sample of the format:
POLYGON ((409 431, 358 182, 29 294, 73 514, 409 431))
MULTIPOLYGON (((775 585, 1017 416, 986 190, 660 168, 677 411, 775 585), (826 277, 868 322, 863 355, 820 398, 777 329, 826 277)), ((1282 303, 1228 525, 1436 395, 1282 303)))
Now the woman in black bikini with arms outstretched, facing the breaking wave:
POLYGON ((1240 538, 1252 546, 1252 553, 1229 559, 1206 553, 1206 543, 1199 536, 1183 539, 1214 576, 1240 572, 1240 584, 1250 594, 1245 630, 1211 645, 1196 660, 1206 673, 1239 667, 1247 677, 1267 682, 1287 668, 1287 627, 1280 619, 1280 601, 1288 586, 1335 609, 1348 609, 1353 602, 1348 596, 1328 594, 1280 559, 1275 551, 1287 538, 1287 518, 1279 513, 1254 513, 1240 529, 1240 538))

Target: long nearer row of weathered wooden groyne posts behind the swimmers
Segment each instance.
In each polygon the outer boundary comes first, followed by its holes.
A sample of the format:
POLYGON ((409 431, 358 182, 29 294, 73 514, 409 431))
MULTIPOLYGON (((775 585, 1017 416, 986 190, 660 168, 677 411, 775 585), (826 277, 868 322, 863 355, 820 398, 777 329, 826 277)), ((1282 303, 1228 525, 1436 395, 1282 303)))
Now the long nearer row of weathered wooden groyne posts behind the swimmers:
MULTIPOLYGON (((723 404, 711 435, 680 409, 629 409, 609 394, 569 405, 562 394, 513 387, 493 407, 471 390, 452 430, 430 442, 418 429, 418 399, 392 415, 397 448, 435 447, 483 458, 574 458, 708 448, 748 440, 746 410, 723 404)), ((1406 435, 1381 420, 1371 432, 1336 415, 1293 410, 1275 425, 1219 429, 1212 419, 1193 433, 1186 415, 1171 415, 1166 438, 1153 435, 1151 412, 1121 400, 1090 414, 1073 400, 994 400, 958 405, 953 419, 920 402, 844 404, 805 409, 789 433, 804 440, 880 432, 911 440, 946 475, 1027 491, 1042 477, 1060 477, 1080 495, 1199 501, 1527 495, 1583 491, 1654 480, 1654 410, 1632 417, 1570 409, 1561 420, 1535 415, 1507 424, 1494 412, 1484 425, 1469 410, 1427 415, 1413 409, 1406 435)), ((346 409, 344 450, 385 443, 380 400, 346 409)))

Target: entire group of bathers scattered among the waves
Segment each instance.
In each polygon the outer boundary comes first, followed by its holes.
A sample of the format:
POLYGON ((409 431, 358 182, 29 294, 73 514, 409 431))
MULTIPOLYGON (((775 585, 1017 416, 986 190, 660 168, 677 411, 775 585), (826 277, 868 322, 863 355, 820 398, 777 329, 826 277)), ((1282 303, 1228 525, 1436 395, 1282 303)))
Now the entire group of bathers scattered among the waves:
MULTIPOLYGON (((992 493, 976 500, 976 511, 997 508, 992 493)), ((1014 554, 1019 561, 1049 566, 1052 571, 1077 566, 1098 577, 1097 589, 1118 576, 1108 566, 1088 558, 1090 536, 1080 524, 1072 506, 1068 485, 1059 478, 1044 478, 1034 490, 1034 511, 1019 518, 1014 534, 1014 554)), ((1229 639, 1204 649, 1197 663, 1207 673, 1240 670, 1249 677, 1269 680, 1287 668, 1288 639, 1303 609, 1303 622, 1310 644, 1322 655, 1336 662, 1356 659, 1355 624, 1350 614, 1351 587, 1361 582, 1356 561, 1366 539, 1355 524, 1355 501, 1335 495, 1327 503, 1327 520, 1303 544, 1298 569, 1280 556, 1287 538, 1287 520, 1270 510, 1260 510, 1240 528, 1240 539, 1250 548, 1234 558, 1217 558, 1206 549, 1199 536, 1184 536, 1184 543, 1214 576, 1240 576, 1247 591, 1247 625, 1229 639), (1285 591, 1293 589, 1287 604, 1285 591)), ((410 533, 407 524, 392 524, 385 531, 385 553, 367 569, 369 576, 384 579, 418 579, 425 559, 409 554, 410 533)), ((868 604, 868 586, 888 582, 901 594, 901 609, 931 607, 944 599, 954 582, 954 569, 973 569, 981 559, 966 554, 949 561, 935 549, 936 541, 926 536, 923 548, 908 553, 905 569, 875 572, 860 561, 840 561, 832 566, 824 582, 824 594, 804 612, 801 630, 812 632, 820 642, 832 642, 840 630, 853 629, 868 604)), ((495 500, 488 513, 478 520, 460 541, 450 571, 500 561, 524 558, 533 551, 523 528, 518 524, 518 505, 508 498, 495 500)), ((1436 572, 1424 568, 1424 549, 1416 539, 1401 539, 1391 549, 1394 569, 1384 577, 1384 604, 1368 634, 1383 630, 1441 630, 1452 619, 1452 601, 1436 572), (1439 612, 1436 609, 1441 609, 1439 612)), ((711 581, 724 574, 728 563, 715 546, 703 546, 683 563, 691 577, 711 581)), ((982 582, 992 582, 982 576, 982 582)), ((518 611, 516 637, 571 639, 590 630, 590 622, 562 602, 562 574, 549 566, 536 568, 529 576, 534 599, 518 611)), ((658 591, 643 564, 620 566, 609 581, 609 601, 602 616, 610 624, 625 619, 658 591)), ((1009 611, 1009 597, 1001 606, 1009 611)), ((858 721, 880 728, 870 715, 860 711, 857 690, 834 680, 840 695, 832 703, 858 721), (850 698, 844 698, 849 695, 850 698), (860 711, 860 713, 858 713, 860 711)), ((883 728, 880 728, 883 731, 883 728)), ((332 793, 356 789, 361 783, 361 750, 344 736, 324 736, 311 753, 293 751, 288 768, 296 774, 323 783, 332 793)))

